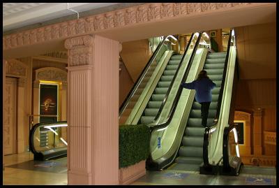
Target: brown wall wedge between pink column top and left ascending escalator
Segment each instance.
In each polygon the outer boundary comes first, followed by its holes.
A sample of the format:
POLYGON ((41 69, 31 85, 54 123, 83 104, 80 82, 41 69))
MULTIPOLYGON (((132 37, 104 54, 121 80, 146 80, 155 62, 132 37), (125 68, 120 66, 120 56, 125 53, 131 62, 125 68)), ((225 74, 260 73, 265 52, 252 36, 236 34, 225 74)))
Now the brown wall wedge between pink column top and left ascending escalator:
POLYGON ((136 82, 151 57, 148 39, 122 43, 120 55, 130 77, 136 82))

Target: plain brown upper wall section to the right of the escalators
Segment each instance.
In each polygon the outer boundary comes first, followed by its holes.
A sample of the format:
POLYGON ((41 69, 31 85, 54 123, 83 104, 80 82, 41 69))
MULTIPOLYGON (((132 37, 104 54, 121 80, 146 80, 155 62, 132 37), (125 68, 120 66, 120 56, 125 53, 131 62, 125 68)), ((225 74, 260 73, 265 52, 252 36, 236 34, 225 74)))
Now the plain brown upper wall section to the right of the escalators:
POLYGON ((236 27, 240 78, 276 78, 276 22, 236 27))

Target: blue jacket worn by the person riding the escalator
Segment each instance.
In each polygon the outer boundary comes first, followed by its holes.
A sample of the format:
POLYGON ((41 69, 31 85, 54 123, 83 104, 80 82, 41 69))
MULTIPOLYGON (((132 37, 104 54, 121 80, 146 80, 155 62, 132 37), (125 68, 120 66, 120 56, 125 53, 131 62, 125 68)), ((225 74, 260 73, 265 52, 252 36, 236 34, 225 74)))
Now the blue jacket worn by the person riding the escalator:
POLYGON ((202 103, 212 101, 211 89, 216 87, 216 84, 208 78, 201 78, 190 83, 183 83, 181 86, 186 89, 195 89, 195 99, 198 103, 202 103))

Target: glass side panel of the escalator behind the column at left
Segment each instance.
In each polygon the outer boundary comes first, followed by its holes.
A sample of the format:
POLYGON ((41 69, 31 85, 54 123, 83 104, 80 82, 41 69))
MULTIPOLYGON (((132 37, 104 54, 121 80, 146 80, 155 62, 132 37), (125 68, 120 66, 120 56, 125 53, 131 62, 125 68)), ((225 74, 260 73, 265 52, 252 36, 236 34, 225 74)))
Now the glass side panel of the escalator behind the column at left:
POLYGON ((41 124, 33 134, 33 147, 36 152, 67 147, 67 123, 41 124))

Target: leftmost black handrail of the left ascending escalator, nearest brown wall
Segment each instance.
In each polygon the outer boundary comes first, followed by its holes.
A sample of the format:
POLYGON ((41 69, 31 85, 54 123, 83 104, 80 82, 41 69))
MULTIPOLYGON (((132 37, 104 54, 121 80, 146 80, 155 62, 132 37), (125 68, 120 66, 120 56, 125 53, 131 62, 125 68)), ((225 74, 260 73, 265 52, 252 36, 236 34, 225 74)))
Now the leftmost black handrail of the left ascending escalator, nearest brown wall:
POLYGON ((167 37, 164 36, 163 41, 160 42, 160 44, 158 45, 158 47, 156 48, 155 52, 153 52, 153 54, 151 55, 149 62, 147 62, 147 64, 144 66, 144 69, 142 70, 142 73, 140 73, 139 78, 137 78, 137 81, 135 82, 135 85, 133 86, 132 89, 130 89, 129 94, 126 96, 126 99, 123 101, 123 103, 121 104, 120 108, 119 108, 119 118, 121 117, 123 111, 126 109, 126 107, 128 106, 128 102, 130 101, 130 99, 134 96, 135 92, 137 91, 137 87, 140 86, 140 83, 142 82, 142 80, 144 79, 144 76, 146 75, 147 71, 149 70, 149 67, 151 66, 151 63, 153 62, 153 60, 155 59, 158 51, 160 50, 160 48, 163 46, 163 43, 165 42, 167 37))

